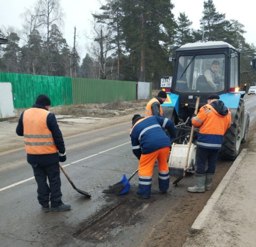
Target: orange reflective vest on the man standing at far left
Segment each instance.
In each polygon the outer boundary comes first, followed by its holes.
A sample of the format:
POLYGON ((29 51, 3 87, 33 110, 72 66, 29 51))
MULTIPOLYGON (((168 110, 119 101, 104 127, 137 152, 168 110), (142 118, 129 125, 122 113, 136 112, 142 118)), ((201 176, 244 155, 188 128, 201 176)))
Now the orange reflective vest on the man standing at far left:
POLYGON ((27 154, 54 154, 57 147, 48 129, 46 119, 50 112, 30 108, 23 114, 24 142, 27 154))

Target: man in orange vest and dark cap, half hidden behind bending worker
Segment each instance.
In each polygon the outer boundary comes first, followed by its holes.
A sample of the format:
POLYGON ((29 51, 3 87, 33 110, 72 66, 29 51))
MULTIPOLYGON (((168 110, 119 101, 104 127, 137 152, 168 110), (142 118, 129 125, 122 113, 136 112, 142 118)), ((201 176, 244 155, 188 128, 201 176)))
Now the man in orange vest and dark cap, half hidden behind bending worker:
POLYGON ((167 94, 165 91, 160 91, 157 96, 147 103, 145 110, 145 117, 159 116, 163 117, 163 110, 161 104, 165 102, 167 94))

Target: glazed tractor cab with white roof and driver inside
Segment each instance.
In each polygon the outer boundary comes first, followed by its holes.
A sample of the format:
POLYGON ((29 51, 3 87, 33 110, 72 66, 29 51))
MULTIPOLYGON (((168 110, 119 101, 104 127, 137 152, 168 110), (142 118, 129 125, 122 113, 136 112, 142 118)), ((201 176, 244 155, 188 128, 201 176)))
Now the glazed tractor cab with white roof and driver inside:
POLYGON ((211 42, 214 46, 207 43, 193 50, 189 49, 197 43, 177 50, 173 93, 225 93, 230 87, 238 87, 239 74, 235 68, 239 66, 239 53, 225 42, 211 42))

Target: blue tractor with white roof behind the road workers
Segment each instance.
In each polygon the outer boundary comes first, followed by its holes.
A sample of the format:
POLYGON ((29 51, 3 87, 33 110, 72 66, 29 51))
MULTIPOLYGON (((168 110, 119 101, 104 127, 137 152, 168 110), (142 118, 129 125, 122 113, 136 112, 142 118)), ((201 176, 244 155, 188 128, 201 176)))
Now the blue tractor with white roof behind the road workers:
MULTIPOLYGON (((200 108, 207 104, 209 94, 217 93, 232 114, 232 125, 225 133, 219 156, 234 160, 241 142, 247 138, 250 122, 249 112, 244 108, 245 91, 239 88, 240 53, 226 42, 197 42, 181 46, 173 60, 173 77, 161 79, 161 88, 168 96, 161 106, 164 117, 180 126, 175 142, 188 142, 191 129, 188 119, 194 113, 196 98, 200 97, 200 108)), ((251 71, 256 69, 255 64, 256 58, 252 61, 251 71)), ((195 130, 195 144, 197 133, 195 130)))

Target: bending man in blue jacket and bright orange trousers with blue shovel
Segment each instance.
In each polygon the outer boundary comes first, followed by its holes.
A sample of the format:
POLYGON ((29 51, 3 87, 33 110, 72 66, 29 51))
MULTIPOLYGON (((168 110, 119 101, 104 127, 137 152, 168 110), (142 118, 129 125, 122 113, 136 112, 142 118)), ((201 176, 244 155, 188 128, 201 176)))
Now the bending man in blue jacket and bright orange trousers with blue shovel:
POLYGON ((175 136, 176 129, 171 120, 159 116, 134 115, 130 137, 133 154, 140 160, 137 196, 149 198, 156 159, 158 160, 159 189, 161 193, 167 192, 170 182, 167 158, 171 146, 170 138, 175 136), (168 130, 170 137, 166 135, 163 128, 168 130))

